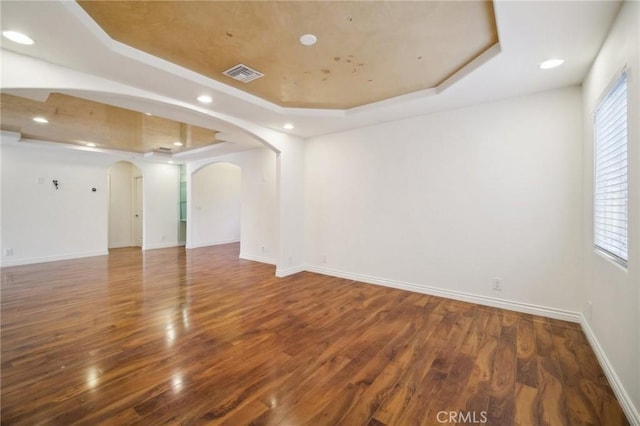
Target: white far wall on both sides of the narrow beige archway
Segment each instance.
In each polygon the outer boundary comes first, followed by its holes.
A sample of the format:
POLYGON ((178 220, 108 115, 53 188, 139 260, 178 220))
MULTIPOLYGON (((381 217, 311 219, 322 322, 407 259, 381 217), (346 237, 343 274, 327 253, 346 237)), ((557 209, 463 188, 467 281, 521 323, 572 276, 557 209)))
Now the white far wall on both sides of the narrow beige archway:
MULTIPOLYGON (((5 132, 0 150, 3 266, 107 253, 108 170, 121 158, 17 142, 5 132), (53 179, 60 189, 54 189, 53 179), (13 254, 5 254, 7 249, 13 254)), ((178 245, 178 167, 137 166, 144 176, 143 249, 178 245)))

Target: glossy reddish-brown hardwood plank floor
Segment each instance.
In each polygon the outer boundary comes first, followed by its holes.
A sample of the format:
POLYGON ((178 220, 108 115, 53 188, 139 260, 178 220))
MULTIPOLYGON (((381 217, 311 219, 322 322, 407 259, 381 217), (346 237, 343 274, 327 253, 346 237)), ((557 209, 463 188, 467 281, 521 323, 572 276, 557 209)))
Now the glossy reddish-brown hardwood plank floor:
POLYGON ((627 424, 576 324, 238 249, 2 269, 2 424, 627 424))

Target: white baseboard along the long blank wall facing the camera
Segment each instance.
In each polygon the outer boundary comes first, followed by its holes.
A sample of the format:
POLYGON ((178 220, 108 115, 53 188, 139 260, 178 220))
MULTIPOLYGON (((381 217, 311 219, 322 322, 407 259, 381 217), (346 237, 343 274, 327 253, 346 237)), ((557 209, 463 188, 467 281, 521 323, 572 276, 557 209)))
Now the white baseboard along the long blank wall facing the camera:
POLYGON ((495 297, 481 296, 477 294, 465 293, 444 288, 431 287, 422 284, 407 283, 402 281, 388 280, 385 278, 372 277, 369 275, 353 274, 350 272, 338 271, 335 269, 323 268, 307 265, 306 270, 323 275, 331 275, 339 278, 360 281, 368 284, 382 285, 401 290, 413 291, 416 293, 429 294, 432 296, 446 297, 448 299, 460 300, 463 302, 477 303, 478 305, 491 306, 494 308, 508 309, 516 312, 523 312, 532 315, 540 315, 570 322, 580 322, 580 313, 563 309, 549 308, 546 306, 534 305, 531 303, 516 302, 512 300, 498 299, 495 297))

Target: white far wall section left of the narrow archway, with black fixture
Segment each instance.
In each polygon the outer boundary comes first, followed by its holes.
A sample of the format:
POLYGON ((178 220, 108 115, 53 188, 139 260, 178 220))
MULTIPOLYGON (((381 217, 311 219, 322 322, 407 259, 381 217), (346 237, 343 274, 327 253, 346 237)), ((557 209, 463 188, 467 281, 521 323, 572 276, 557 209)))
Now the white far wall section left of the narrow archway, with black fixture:
POLYGON ((104 161, 4 143, 1 149, 2 265, 106 254, 104 161))

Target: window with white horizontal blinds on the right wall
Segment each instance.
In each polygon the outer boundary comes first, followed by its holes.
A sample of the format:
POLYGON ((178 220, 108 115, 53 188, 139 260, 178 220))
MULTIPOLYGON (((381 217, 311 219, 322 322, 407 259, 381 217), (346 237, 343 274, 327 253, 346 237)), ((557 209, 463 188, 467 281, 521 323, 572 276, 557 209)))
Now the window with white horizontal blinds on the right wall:
POLYGON ((594 243, 627 264, 627 75, 615 81, 594 114, 594 243))

